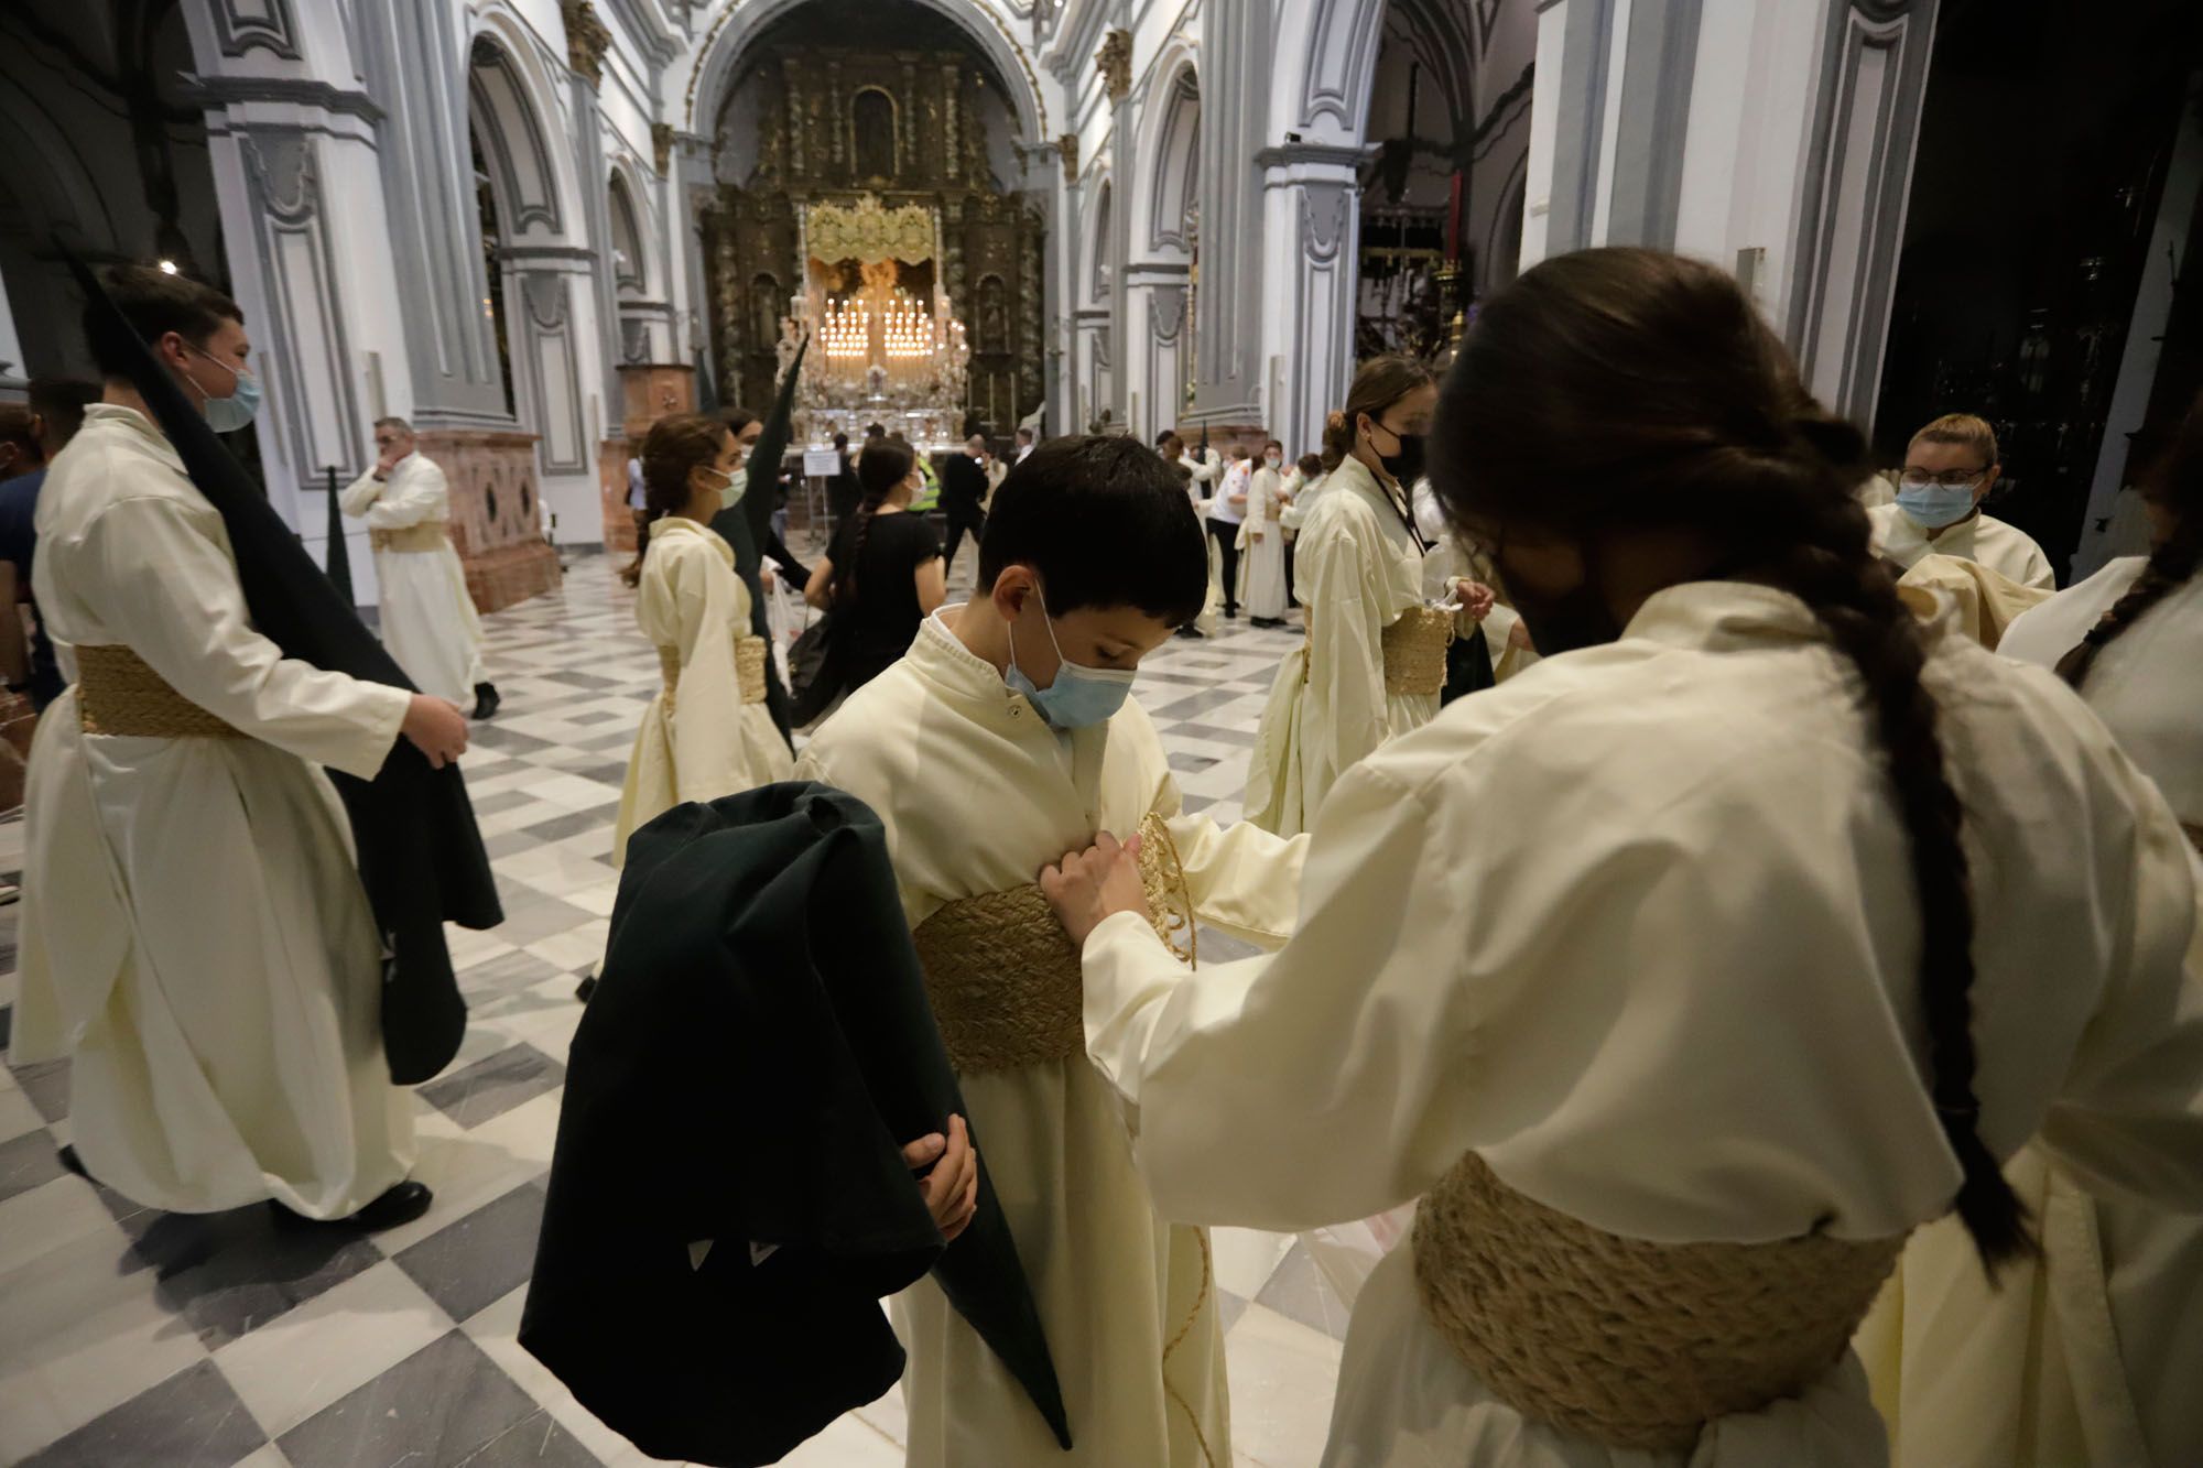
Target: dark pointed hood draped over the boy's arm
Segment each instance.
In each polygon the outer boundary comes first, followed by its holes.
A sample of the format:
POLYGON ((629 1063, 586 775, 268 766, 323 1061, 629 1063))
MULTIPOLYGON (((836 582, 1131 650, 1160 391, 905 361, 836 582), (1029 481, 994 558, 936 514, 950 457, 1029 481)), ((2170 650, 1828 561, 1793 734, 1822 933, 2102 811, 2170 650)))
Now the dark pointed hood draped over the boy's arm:
POLYGON ((949 1115, 879 818, 824 785, 674 807, 628 842, 520 1345, 643 1453, 747 1468, 894 1386, 879 1296, 932 1270, 1068 1448, 985 1137, 952 1245, 903 1166, 949 1115))

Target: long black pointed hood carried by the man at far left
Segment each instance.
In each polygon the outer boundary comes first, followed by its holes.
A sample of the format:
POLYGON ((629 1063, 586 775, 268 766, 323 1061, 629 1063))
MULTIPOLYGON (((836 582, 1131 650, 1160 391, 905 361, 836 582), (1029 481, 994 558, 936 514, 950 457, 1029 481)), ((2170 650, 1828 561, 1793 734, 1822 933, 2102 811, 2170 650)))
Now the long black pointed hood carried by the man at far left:
MULTIPOLYGON (((223 516, 253 628, 284 657, 412 690, 350 600, 313 564, 245 465, 139 342, 106 289, 75 256, 68 256, 68 267, 93 306, 90 331, 130 361, 130 384, 176 447, 185 474, 223 516)), ((458 767, 432 769, 405 738, 392 745, 372 780, 339 769, 330 769, 328 778, 344 798, 359 879, 383 935, 381 1018, 390 1080, 419 1084, 452 1062, 467 1032, 467 1003, 458 996, 443 924, 496 928, 504 921, 489 853, 482 851, 458 767)), ((209 873, 209 879, 218 882, 220 873, 209 873)))

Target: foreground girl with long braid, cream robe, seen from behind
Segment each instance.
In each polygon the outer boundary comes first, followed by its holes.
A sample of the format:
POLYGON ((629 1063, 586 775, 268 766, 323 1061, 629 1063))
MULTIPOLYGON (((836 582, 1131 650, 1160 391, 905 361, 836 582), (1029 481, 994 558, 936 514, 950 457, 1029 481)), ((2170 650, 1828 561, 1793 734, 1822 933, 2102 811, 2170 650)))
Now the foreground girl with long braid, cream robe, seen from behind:
POLYGON ((1914 624, 1864 436, 1714 267, 1547 260, 1439 421, 1544 661, 1339 782, 1276 957, 1190 981, 1113 842, 1042 875, 1141 1175, 1273 1230, 1423 1195, 1328 1468, 1884 1464, 1844 1347, 1910 1230, 2025 1256, 2031 1135, 2203 1206, 2188 842, 2071 690, 1914 624))

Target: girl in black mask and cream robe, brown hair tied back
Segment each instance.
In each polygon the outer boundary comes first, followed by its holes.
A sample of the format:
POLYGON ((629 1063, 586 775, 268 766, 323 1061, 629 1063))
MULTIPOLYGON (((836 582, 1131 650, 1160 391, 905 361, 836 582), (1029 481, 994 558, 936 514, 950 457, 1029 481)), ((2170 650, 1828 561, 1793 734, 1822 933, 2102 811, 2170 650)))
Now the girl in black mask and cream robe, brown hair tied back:
POLYGON ((1247 820, 1265 831, 1306 831, 1355 760, 1439 712, 1443 626, 1434 657, 1430 648, 1394 648, 1388 659, 1386 648, 1388 628, 1408 633, 1430 604, 1430 542, 1414 525, 1406 485, 1421 474, 1436 397, 1421 361, 1379 357, 1355 375, 1344 412, 1333 412, 1324 430, 1328 474, 1293 562, 1309 637, 1278 668, 1247 776, 1247 820), (1430 668, 1436 681, 1419 677, 1430 668))

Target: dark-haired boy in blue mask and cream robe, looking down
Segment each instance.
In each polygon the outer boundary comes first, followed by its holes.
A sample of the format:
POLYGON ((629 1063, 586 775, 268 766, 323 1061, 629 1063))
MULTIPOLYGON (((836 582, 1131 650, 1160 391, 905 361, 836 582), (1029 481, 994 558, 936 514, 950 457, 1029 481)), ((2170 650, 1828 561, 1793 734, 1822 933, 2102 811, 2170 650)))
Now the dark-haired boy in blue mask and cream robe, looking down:
POLYGON ((1132 674, 1207 595, 1179 474, 1119 436, 1038 445, 996 492, 978 591, 919 630, 811 741, 797 778, 888 827, 903 917, 974 1142, 1033 1281, 1075 1448, 1060 1453, 941 1292, 894 1300, 912 1468, 1229 1464, 1207 1234, 1157 1217, 1126 1118, 1086 1060, 1079 961, 1035 875, 1095 831, 1141 833, 1157 928, 1278 946, 1302 840, 1218 831, 1179 787, 1132 674))

